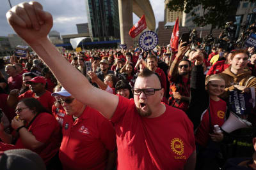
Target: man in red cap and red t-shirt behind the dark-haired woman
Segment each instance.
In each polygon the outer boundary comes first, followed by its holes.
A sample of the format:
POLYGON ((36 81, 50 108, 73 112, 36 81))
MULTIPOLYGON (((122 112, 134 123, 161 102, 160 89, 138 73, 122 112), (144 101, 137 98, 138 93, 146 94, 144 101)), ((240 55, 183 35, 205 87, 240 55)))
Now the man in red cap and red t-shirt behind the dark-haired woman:
POLYGON ((36 76, 35 78, 26 81, 26 83, 30 85, 30 90, 24 92, 24 94, 20 94, 20 96, 18 96, 19 90, 15 89, 10 91, 7 101, 8 105, 15 107, 21 99, 33 97, 40 101, 44 108, 51 112, 55 99, 51 96, 51 92, 45 89, 45 78, 36 76))

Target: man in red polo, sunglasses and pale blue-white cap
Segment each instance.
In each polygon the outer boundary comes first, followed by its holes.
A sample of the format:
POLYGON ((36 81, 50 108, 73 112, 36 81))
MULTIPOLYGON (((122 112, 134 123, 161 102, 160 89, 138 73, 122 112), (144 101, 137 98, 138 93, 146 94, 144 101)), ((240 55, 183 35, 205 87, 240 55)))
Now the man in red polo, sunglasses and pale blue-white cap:
POLYGON ((58 97, 66 113, 59 154, 64 169, 114 169, 116 138, 113 125, 63 87, 52 96, 58 97))

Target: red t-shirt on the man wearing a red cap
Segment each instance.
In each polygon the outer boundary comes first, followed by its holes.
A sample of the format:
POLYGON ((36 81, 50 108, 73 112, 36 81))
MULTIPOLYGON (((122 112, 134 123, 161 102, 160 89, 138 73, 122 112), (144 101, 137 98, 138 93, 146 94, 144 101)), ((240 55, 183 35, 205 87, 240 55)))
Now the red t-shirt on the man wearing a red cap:
POLYGON ((51 92, 49 92, 48 90, 45 90, 45 93, 42 96, 36 97, 35 95, 36 94, 34 92, 32 92, 31 90, 28 90, 28 91, 24 92, 24 94, 20 94, 18 99, 21 100, 24 98, 33 97, 33 98, 37 99, 38 101, 40 101, 40 103, 48 111, 52 110, 52 105, 54 104, 55 98, 51 96, 51 92))

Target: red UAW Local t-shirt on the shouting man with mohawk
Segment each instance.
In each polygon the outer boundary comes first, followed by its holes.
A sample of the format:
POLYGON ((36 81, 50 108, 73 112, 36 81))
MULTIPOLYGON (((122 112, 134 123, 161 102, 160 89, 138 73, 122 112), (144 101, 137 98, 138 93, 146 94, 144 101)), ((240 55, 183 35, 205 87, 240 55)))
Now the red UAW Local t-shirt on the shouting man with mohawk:
POLYGON ((111 119, 116 131, 118 169, 184 169, 195 151, 193 124, 184 111, 165 107, 159 117, 141 117, 133 99, 119 97, 111 119))

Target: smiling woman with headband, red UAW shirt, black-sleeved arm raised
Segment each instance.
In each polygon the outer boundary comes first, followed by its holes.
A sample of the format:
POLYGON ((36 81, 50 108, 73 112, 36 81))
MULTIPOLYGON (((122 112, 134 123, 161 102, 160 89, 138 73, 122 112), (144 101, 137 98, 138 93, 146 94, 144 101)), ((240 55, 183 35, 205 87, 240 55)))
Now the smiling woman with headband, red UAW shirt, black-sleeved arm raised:
POLYGON ((196 129, 196 169, 218 169, 216 155, 220 151, 218 142, 223 140, 223 134, 213 129, 214 125, 221 127, 225 122, 227 103, 219 97, 225 92, 225 80, 213 74, 205 81, 203 54, 195 52, 193 59, 196 61, 191 74, 191 99, 187 114, 196 129))

